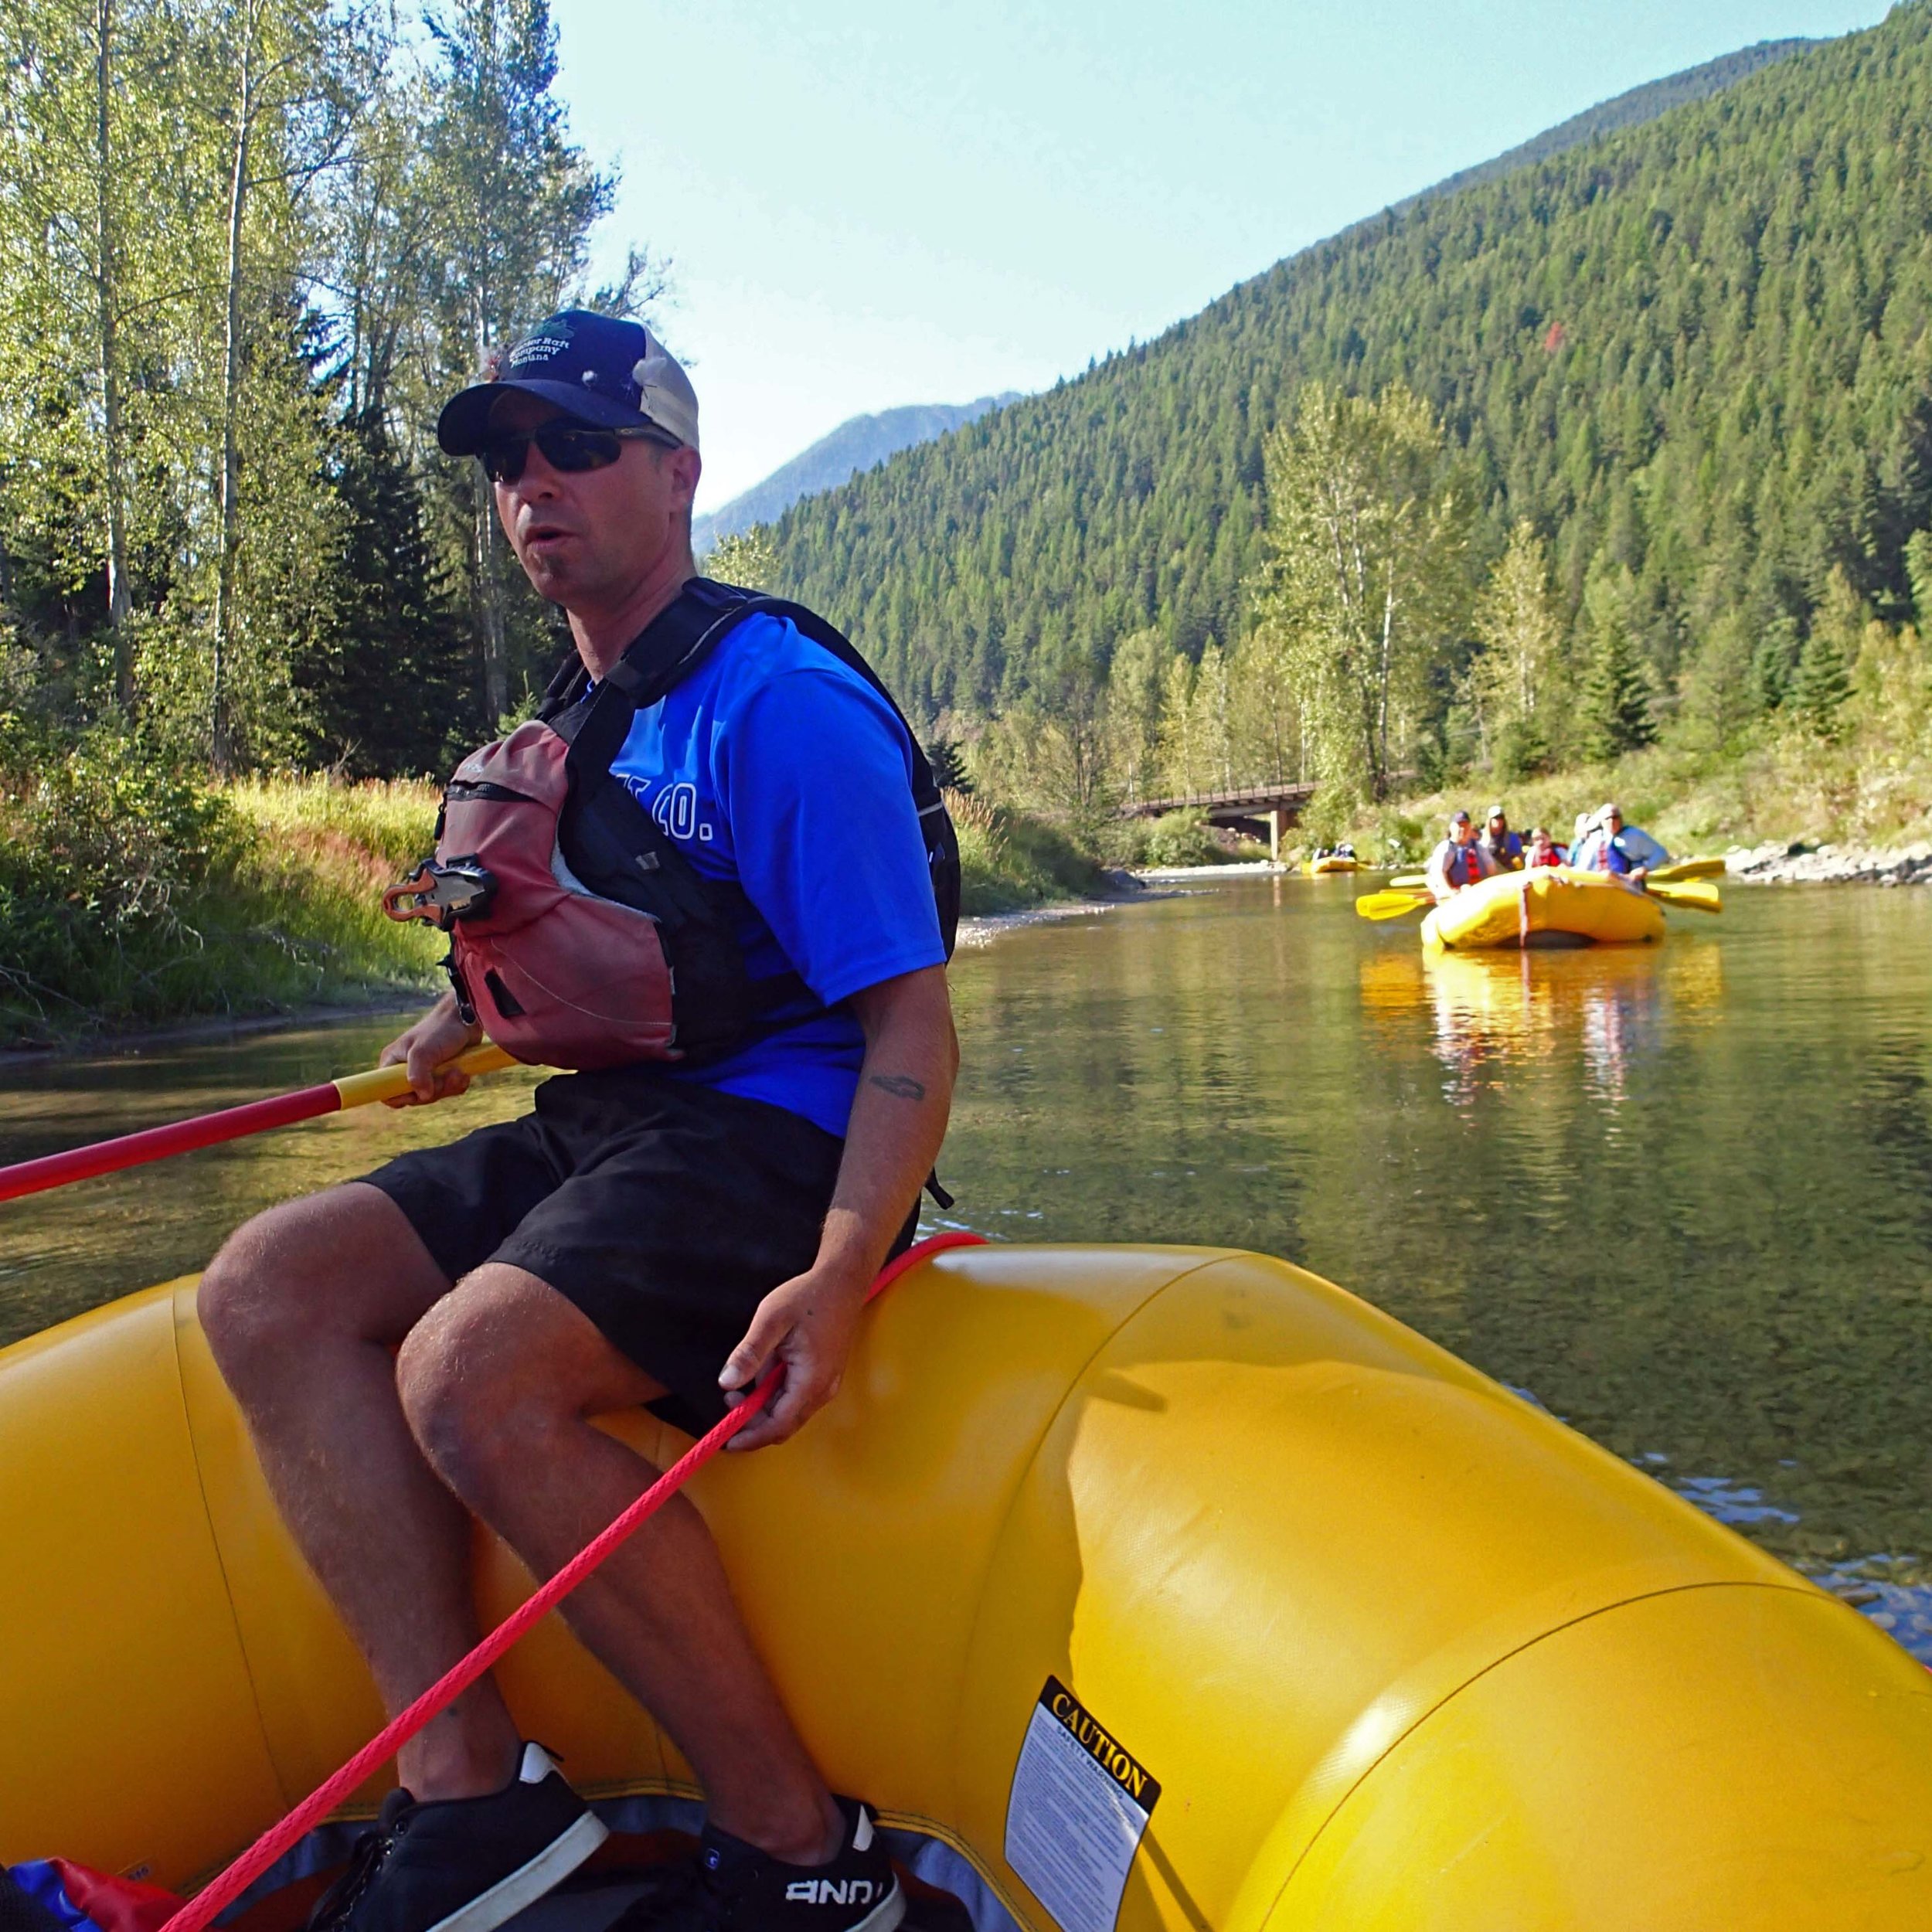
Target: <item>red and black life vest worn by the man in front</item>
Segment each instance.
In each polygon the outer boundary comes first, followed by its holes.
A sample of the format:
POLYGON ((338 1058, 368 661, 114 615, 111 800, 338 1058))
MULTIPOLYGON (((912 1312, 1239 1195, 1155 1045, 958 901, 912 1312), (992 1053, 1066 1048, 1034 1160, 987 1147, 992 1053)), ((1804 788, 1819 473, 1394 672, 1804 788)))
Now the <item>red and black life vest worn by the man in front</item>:
POLYGON ((632 719, 688 678, 748 616, 790 620, 879 692, 912 746, 912 798, 947 956, 958 927, 958 837, 920 740, 854 645, 817 612, 694 578, 585 699, 572 649, 543 707, 458 765, 437 856, 384 893, 394 918, 450 933, 464 1018, 545 1066, 715 1059, 823 1010, 796 972, 752 980, 750 912, 699 871, 611 771, 632 719))

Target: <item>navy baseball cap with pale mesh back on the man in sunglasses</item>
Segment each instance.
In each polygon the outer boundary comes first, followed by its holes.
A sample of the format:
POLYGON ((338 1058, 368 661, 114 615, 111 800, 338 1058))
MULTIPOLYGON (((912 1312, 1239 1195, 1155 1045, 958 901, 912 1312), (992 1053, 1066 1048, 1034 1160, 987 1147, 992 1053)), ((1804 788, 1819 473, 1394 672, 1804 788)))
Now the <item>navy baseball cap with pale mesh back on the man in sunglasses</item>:
POLYGON ((564 309, 537 323, 487 383, 471 383, 442 406, 437 442, 446 454, 475 456, 483 448, 491 404, 506 388, 554 402, 597 429, 653 423, 697 448, 697 390, 643 323, 620 323, 589 309, 564 309))

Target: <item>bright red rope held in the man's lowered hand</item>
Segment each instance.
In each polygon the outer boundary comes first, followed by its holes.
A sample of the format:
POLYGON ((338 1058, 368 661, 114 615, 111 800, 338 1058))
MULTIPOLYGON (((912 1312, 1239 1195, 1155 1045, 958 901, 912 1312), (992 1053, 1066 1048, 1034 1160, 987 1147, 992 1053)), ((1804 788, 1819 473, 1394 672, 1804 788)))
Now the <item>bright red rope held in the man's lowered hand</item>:
MULTIPOLYGON (((881 1296, 900 1275, 947 1248, 980 1248, 983 1235, 952 1231, 914 1242, 871 1285, 866 1300, 881 1296)), ((651 1484, 636 1503, 599 1530, 547 1584, 518 1604, 489 1636, 460 1663, 444 1671, 408 1710, 398 1712, 332 1777, 315 1787, 280 1824, 270 1826, 220 1878, 203 1886, 162 1928, 162 1932, 203 1932, 216 1913, 226 1911, 282 1853, 323 1822, 371 1772, 386 1764, 440 1710, 464 1694, 533 1623, 547 1617, 618 1544, 653 1517, 703 1468, 769 1401, 781 1372, 767 1370, 757 1387, 701 1435, 651 1484)))

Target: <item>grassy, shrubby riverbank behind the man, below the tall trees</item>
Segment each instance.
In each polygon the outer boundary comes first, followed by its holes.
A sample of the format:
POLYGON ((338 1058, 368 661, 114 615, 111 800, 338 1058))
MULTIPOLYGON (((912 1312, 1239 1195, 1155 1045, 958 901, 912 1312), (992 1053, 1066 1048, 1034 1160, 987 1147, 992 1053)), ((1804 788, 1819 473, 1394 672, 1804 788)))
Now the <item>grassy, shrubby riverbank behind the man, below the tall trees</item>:
MULTIPOLYGON (((435 815, 433 784, 205 786, 126 738, 0 717, 0 1047, 435 991, 440 937, 379 904, 435 815)), ((972 798, 958 815, 966 912, 1099 883, 1047 825, 972 798)))

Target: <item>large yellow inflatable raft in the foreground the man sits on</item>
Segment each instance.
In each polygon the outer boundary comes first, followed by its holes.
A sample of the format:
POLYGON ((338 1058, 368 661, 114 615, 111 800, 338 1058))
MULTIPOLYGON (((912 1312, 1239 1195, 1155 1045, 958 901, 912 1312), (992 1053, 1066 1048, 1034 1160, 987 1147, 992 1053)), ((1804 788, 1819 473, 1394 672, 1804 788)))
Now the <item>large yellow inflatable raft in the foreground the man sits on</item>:
MULTIPOLYGON (((978 1932, 1932 1924, 1932 1677, 1281 1262, 949 1254, 696 1495, 819 1764, 978 1932)), ((0 1354, 0 1551, 4 1861, 187 1886, 377 1725, 191 1283, 0 1354)), ((620 1830, 694 1824, 560 1625, 504 1679, 620 1830)))

